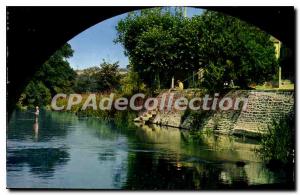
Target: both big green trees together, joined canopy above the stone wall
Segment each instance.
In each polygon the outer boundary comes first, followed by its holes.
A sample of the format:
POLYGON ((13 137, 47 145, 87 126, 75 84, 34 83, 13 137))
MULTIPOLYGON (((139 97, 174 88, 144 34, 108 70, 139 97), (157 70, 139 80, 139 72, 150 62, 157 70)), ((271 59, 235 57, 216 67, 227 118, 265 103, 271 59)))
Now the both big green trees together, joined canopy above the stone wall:
POLYGON ((221 13, 187 18, 181 9, 146 9, 116 28, 132 70, 151 88, 169 88, 172 76, 185 80, 199 68, 207 89, 231 80, 246 88, 270 79, 277 66, 269 35, 221 13))

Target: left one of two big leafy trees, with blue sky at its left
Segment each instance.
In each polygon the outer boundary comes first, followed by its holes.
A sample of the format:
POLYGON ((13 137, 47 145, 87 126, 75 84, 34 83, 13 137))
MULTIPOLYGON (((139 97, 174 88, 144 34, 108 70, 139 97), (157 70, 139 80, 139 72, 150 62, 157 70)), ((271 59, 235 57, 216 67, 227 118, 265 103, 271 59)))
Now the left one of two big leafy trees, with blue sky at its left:
POLYGON ((197 32, 180 9, 133 12, 116 29, 116 42, 124 46, 132 71, 147 86, 169 87, 172 75, 182 79, 199 65, 197 32))

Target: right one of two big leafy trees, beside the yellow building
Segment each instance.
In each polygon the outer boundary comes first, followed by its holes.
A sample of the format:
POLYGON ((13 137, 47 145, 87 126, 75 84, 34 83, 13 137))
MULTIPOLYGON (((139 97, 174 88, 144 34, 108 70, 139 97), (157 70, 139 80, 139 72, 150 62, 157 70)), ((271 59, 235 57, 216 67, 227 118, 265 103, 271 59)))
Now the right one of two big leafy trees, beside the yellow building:
POLYGON ((206 67, 203 86, 220 89, 233 80, 247 88, 275 74, 278 64, 270 35, 218 12, 206 11, 194 20, 198 21, 199 52, 206 67))

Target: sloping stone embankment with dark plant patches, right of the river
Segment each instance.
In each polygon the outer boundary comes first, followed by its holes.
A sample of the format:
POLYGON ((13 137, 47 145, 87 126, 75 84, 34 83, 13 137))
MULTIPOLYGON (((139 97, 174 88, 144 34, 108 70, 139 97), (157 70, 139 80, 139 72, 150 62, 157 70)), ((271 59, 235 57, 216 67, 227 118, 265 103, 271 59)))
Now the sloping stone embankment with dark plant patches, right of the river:
MULTIPOLYGON (((190 95, 190 92, 182 91, 177 92, 174 97, 190 95)), ((194 96, 200 94, 195 93, 194 96)), ((247 107, 239 107, 237 110, 157 111, 147 122, 182 129, 260 137, 267 132, 274 120, 280 120, 294 112, 294 90, 234 90, 223 97, 247 98, 247 107)))

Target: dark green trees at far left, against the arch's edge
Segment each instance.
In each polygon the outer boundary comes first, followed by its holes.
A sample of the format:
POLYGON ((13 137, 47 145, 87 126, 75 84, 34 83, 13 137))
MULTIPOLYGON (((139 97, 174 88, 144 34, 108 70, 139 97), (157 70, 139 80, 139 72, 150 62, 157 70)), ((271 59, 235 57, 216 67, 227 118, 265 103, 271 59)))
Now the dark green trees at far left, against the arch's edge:
POLYGON ((36 72, 21 95, 18 106, 45 106, 56 93, 70 93, 76 73, 66 58, 73 55, 69 44, 57 50, 36 72))

